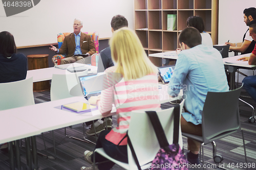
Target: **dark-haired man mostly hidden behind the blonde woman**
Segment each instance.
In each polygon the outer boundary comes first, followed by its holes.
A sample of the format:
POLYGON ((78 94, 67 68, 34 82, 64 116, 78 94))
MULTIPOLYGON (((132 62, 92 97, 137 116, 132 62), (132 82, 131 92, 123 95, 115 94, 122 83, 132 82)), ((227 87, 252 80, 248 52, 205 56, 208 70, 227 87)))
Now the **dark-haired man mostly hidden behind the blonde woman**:
MULTIPOLYGON (((111 20, 111 30, 112 33, 114 31, 123 28, 128 27, 128 21, 127 19, 122 15, 115 15, 111 20)), ((104 50, 100 51, 99 54, 99 61, 98 61, 98 70, 105 70, 106 68, 114 66, 113 60, 111 58, 111 50, 110 46, 106 47, 104 50)), ((95 122, 95 120, 94 120, 95 122)), ((92 122, 88 122, 87 125, 92 124, 92 122)), ((107 127, 108 129, 112 128, 112 116, 107 117, 104 119, 103 124, 100 124, 99 121, 96 121, 94 125, 92 124, 91 129, 86 131, 87 135, 95 135, 94 127, 96 130, 96 134, 100 133, 101 131, 105 130, 107 127)))

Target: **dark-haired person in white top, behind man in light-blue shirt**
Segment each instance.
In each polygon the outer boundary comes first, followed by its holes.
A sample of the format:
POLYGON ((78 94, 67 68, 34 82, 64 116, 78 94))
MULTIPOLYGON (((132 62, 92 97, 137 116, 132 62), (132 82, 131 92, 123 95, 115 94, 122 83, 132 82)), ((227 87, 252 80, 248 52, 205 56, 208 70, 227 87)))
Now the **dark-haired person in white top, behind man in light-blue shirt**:
POLYGON ((194 27, 200 32, 203 45, 213 46, 210 34, 204 32, 205 27, 203 18, 200 16, 189 16, 187 18, 187 27, 194 27))

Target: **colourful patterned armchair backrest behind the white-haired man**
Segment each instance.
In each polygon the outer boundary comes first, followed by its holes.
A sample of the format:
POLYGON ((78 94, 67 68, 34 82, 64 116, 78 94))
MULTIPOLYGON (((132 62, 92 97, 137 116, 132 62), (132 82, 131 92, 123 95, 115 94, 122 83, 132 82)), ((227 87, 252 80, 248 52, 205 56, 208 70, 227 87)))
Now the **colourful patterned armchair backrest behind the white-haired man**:
MULTIPOLYGON (((95 45, 95 51, 96 51, 96 53, 99 53, 99 33, 98 33, 98 32, 83 32, 83 33, 86 33, 86 34, 91 35, 92 40, 93 40, 94 45, 95 45)), ((69 34, 70 34, 70 33, 59 33, 59 34, 57 35, 58 48, 61 47, 65 36, 66 36, 66 35, 69 35, 69 34)))

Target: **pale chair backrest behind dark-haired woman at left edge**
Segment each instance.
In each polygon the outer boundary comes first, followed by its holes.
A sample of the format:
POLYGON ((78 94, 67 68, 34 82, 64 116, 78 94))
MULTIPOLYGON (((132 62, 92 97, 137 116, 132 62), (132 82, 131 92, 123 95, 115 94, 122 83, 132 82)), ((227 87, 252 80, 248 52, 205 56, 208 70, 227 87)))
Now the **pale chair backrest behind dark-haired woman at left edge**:
POLYGON ((0 110, 34 105, 33 78, 0 83, 0 110))

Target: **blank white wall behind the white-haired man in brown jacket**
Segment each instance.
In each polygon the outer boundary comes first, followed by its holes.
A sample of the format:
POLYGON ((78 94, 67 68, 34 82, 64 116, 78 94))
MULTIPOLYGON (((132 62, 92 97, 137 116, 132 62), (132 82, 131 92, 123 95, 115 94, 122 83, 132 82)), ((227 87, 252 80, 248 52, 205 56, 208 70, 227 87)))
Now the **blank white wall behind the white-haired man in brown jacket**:
POLYGON ((57 34, 73 32, 74 18, 83 20, 82 32, 99 32, 99 38, 112 36, 110 22, 123 15, 134 29, 133 0, 41 0, 33 8, 6 17, 0 3, 0 32, 13 34, 17 46, 57 42, 57 34))

